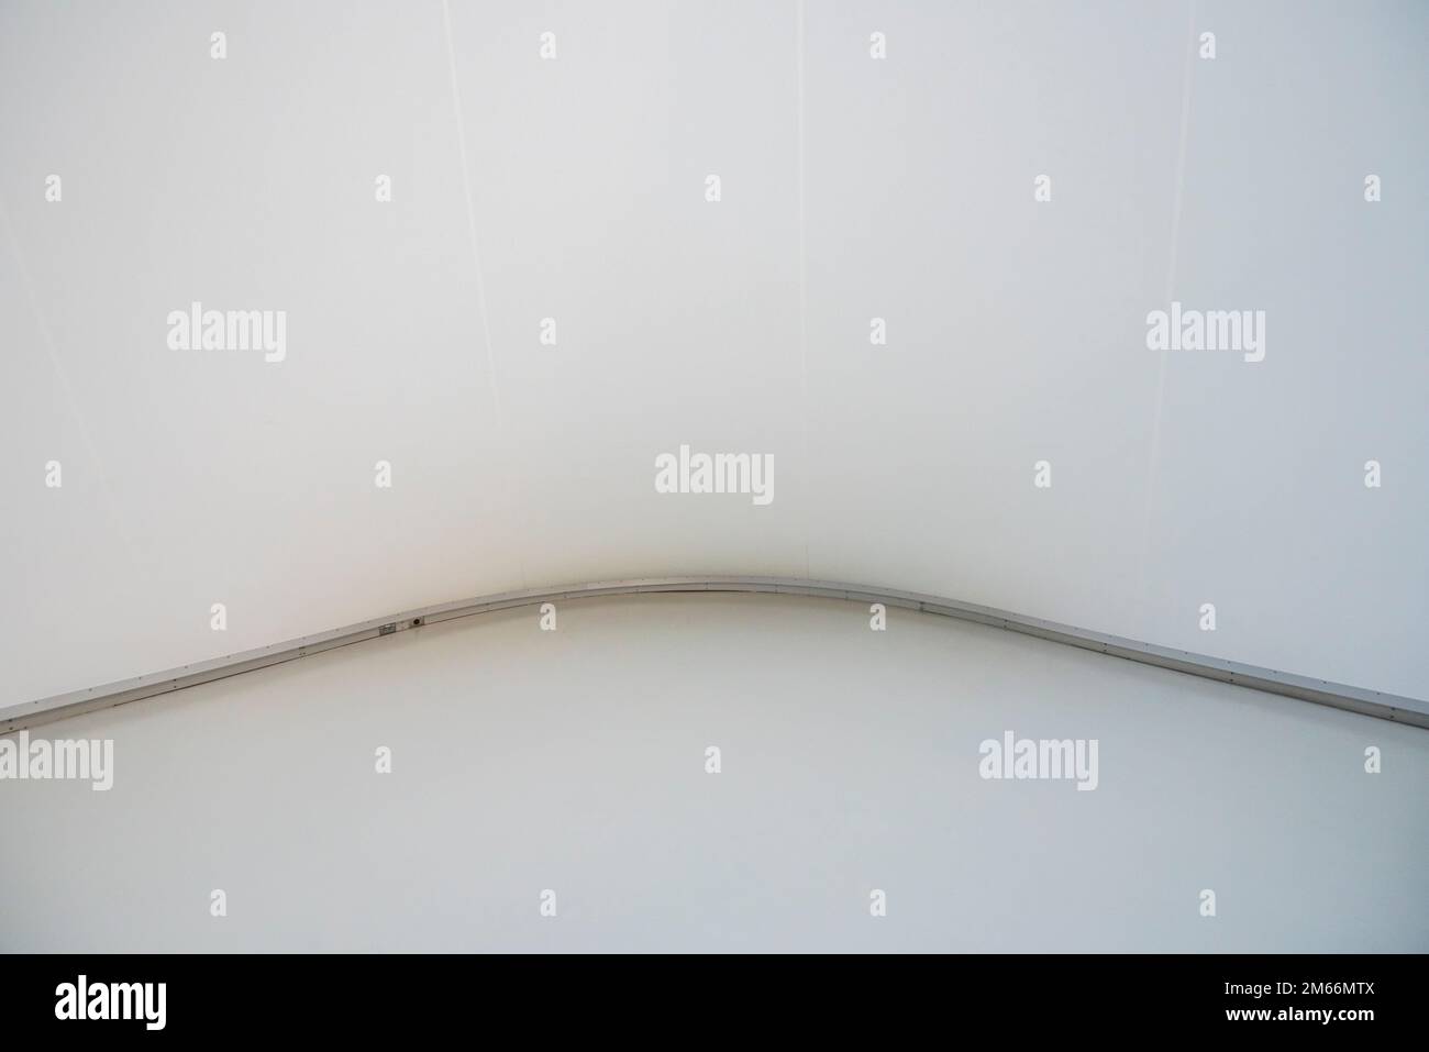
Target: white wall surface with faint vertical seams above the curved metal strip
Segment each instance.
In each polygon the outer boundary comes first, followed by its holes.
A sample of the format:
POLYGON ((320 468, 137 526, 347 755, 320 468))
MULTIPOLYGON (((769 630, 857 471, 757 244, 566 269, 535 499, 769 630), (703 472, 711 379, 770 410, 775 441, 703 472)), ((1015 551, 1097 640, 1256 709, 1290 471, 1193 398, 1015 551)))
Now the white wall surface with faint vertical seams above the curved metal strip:
POLYGON ((800 41, 763 0, 453 3, 450 36, 406 0, 7 3, 0 703, 686 573, 1429 696, 1426 20, 809 3, 800 41), (287 310, 287 359, 169 350, 194 299, 287 310), (1162 360, 1169 299, 1266 310, 1266 360, 1162 360), (775 503, 656 495, 680 443, 773 453, 775 503))

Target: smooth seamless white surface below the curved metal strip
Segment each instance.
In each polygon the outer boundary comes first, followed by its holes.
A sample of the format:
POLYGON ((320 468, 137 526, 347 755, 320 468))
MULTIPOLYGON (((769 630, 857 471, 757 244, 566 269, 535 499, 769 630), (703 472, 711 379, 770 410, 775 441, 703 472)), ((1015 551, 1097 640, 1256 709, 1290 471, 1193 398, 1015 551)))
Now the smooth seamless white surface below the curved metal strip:
POLYGON ((1429 949, 1429 735, 903 610, 592 599, 59 728, 114 788, 0 782, 3 949, 1429 949), (1009 729, 1099 788, 982 780, 1009 729))

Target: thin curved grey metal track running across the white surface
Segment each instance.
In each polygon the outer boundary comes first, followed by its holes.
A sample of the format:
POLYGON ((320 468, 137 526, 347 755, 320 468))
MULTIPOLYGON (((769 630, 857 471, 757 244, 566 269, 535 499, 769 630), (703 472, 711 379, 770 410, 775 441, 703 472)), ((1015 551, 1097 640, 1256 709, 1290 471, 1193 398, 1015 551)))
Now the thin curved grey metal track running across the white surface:
POLYGON ((269 665, 280 665, 282 662, 322 653, 323 650, 347 646, 349 643, 360 643, 364 639, 407 632, 423 625, 453 620, 454 617, 469 617, 492 610, 506 610, 513 606, 533 606, 536 603, 563 599, 634 595, 640 592, 770 592, 777 595, 847 599, 859 603, 885 603, 886 606, 899 606, 910 610, 922 610, 923 613, 977 622, 980 625, 993 625, 1009 632, 1020 632, 1026 636, 1079 646, 1083 650, 1096 650, 1097 653, 1125 658, 1143 665, 1156 665, 1163 669, 1215 679, 1222 683, 1235 683, 1266 693, 1358 712, 1365 716, 1378 716, 1379 719, 1389 719, 1396 723, 1429 728, 1429 702, 1415 698, 1402 698, 1345 683, 1296 676, 1289 672, 1262 669, 1255 665, 1228 662, 1220 658, 1190 653, 1189 650, 1173 650, 1167 646, 1142 643, 1136 639, 1125 639, 1122 636, 1109 636, 1089 629, 1079 629, 1073 625, 1059 625, 1057 622, 1042 620, 1040 617, 1027 617, 1020 613, 997 610, 990 606, 962 603, 956 599, 800 577, 640 577, 564 587, 537 587, 524 592, 480 596, 477 599, 462 599, 454 603, 409 610, 392 617, 347 625, 330 632, 319 632, 313 636, 292 639, 286 643, 273 643, 272 646, 244 650, 197 665, 184 665, 147 676, 121 679, 114 683, 104 683, 103 686, 71 690, 34 702, 23 702, 0 708, 0 733, 53 723, 84 712, 137 702, 144 698, 167 695, 189 686, 197 686, 199 683, 237 676, 244 672, 267 668, 269 665))

